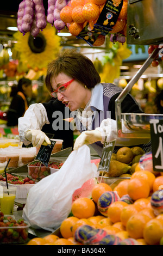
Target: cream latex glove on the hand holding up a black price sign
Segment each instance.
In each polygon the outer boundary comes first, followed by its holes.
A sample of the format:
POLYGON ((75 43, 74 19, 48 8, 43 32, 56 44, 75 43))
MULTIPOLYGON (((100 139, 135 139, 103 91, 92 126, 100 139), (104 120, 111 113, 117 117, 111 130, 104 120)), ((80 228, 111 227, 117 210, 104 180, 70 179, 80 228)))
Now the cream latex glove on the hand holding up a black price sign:
POLYGON ((51 141, 46 134, 40 130, 30 130, 26 133, 26 139, 32 142, 33 147, 40 147, 41 145, 51 145, 51 141))

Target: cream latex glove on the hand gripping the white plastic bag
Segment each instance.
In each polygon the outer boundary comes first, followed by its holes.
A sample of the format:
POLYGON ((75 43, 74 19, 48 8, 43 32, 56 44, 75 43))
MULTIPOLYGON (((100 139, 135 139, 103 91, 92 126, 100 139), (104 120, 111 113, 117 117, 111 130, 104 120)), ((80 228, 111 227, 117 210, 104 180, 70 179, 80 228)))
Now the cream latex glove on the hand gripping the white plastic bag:
POLYGON ((102 139, 102 135, 101 135, 101 132, 98 130, 84 131, 76 139, 73 149, 76 150, 79 147, 83 146, 84 144, 89 145, 97 141, 101 141, 101 139, 102 139))

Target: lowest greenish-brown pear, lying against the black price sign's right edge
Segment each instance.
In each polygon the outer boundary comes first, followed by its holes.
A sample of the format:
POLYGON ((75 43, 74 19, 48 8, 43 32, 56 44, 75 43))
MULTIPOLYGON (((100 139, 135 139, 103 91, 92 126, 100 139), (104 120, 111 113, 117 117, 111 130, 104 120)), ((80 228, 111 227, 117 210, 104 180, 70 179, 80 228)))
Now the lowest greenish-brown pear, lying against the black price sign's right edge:
POLYGON ((130 166, 126 163, 119 162, 117 160, 111 160, 109 166, 109 177, 118 177, 123 173, 127 173, 130 170, 130 166))

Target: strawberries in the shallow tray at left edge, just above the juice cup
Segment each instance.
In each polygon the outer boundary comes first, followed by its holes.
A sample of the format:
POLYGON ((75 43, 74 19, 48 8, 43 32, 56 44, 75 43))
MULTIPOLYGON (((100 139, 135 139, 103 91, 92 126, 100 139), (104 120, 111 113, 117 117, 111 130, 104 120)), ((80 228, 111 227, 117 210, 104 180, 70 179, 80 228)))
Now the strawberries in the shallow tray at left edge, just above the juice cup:
MULTIPOLYGON (((5 174, 0 175, 0 181, 6 181, 5 174)), ((7 181, 8 183, 15 185, 34 184, 34 181, 28 176, 26 178, 22 178, 21 176, 14 176, 10 173, 7 173, 7 181)))

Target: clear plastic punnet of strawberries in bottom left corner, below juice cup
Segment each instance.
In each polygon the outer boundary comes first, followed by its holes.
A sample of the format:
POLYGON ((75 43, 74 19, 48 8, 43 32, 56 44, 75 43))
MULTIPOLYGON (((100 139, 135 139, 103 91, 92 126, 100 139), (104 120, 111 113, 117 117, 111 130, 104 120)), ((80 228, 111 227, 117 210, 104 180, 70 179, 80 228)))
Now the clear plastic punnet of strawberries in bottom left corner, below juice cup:
POLYGON ((14 220, 0 212, 0 244, 25 243, 28 239, 29 225, 23 219, 14 220))

